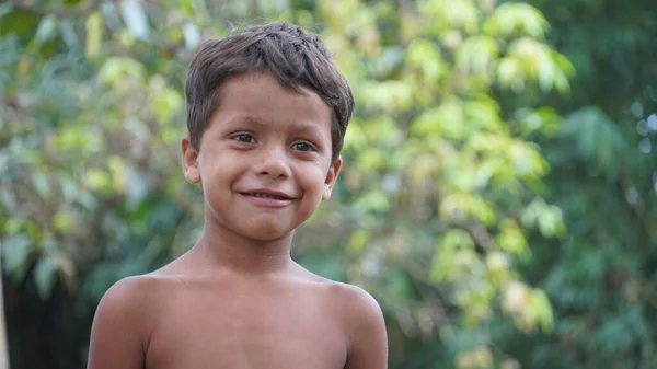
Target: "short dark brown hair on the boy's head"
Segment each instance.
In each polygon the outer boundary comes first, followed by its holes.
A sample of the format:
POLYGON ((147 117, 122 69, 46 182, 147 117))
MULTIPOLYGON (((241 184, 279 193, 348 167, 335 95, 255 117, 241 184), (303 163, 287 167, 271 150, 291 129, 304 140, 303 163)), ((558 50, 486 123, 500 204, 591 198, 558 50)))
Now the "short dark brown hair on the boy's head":
POLYGON ((255 26, 204 42, 185 81, 192 146, 200 148, 200 137, 219 105, 219 90, 226 79, 268 71, 286 88, 299 91, 304 87, 314 91, 331 107, 331 149, 335 160, 354 112, 354 95, 331 57, 318 35, 288 22, 255 26))

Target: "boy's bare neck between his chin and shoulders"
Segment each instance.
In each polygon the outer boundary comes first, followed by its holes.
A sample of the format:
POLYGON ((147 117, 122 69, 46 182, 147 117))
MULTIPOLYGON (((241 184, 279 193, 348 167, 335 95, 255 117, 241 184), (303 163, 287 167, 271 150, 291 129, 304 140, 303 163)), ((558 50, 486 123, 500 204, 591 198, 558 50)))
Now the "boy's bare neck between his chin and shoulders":
POLYGON ((293 265, 290 246, 293 232, 280 239, 253 240, 206 220, 200 240, 194 246, 204 264, 235 274, 277 274, 293 265))

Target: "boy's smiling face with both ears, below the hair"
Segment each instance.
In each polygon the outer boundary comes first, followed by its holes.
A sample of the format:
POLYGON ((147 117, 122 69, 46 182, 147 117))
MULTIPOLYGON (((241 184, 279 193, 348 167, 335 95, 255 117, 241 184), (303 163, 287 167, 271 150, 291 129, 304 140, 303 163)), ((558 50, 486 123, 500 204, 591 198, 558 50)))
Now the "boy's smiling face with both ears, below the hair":
POLYGON ((331 108, 314 92, 285 89, 269 73, 223 83, 219 107, 194 150, 183 139, 185 177, 200 182, 206 219, 252 240, 275 240, 331 196, 331 108))

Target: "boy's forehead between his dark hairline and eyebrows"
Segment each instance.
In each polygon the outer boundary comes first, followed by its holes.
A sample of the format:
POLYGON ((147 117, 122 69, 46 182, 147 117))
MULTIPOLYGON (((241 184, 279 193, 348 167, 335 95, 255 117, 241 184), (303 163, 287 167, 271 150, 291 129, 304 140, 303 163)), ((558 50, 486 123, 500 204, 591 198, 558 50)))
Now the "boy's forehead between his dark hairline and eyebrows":
POLYGON ((312 124, 331 130, 331 107, 312 90, 280 84, 268 72, 231 77, 219 90, 217 116, 251 116, 267 124, 312 124))

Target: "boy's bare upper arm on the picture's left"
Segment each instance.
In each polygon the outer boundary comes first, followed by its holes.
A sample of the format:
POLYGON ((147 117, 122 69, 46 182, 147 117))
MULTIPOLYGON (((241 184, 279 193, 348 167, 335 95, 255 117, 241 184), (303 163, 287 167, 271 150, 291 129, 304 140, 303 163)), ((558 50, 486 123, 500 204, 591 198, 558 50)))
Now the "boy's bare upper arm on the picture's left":
POLYGON ((88 369, 142 369, 147 348, 142 277, 126 278, 101 299, 91 328, 88 369))

